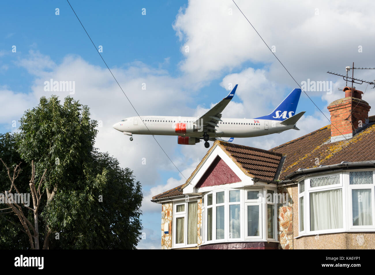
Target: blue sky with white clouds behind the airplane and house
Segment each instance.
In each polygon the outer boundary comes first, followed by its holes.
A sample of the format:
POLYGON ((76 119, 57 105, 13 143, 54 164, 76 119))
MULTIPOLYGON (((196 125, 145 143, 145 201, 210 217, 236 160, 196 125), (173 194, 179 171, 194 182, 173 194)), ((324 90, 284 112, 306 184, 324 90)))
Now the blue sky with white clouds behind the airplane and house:
MULTIPOLYGON (((350 1, 273 1, 268 5, 238 0, 237 4, 269 46, 275 46, 275 54, 298 83, 332 81, 332 92, 308 92, 329 117, 327 105, 344 96, 337 88, 345 83, 326 71, 345 73, 345 66, 353 61, 360 67, 375 65, 371 63, 375 22, 369 12, 373 4, 361 2, 356 7, 350 1)), ((270 113, 297 88, 232 1, 70 3, 95 45, 103 46, 103 58, 141 115, 198 116, 223 98, 228 83, 233 82, 239 83, 239 88, 223 115, 257 117, 270 113), (141 14, 142 8, 146 15, 141 14), (189 52, 184 51, 186 45, 189 52), (147 83, 147 91, 140 89, 142 83, 147 83)), ((13 120, 36 106, 40 96, 52 94, 43 91, 45 80, 74 80, 72 96, 90 107, 93 119, 103 122, 96 146, 133 169, 142 183, 146 239, 138 247, 160 248, 161 207, 149 200, 184 179, 152 137, 135 137, 130 143, 111 128, 135 112, 68 3, 7 1, 0 14, 0 132, 17 131, 13 120), (56 8, 60 15, 55 15, 56 8), (13 45, 17 52, 12 52, 13 45), (143 157, 146 165, 141 164, 143 157)), ((357 76, 374 79, 369 71, 357 76)), ((366 86, 357 88, 365 91, 366 86)), ((67 95, 58 94, 62 100, 67 95)), ((371 105, 374 98, 368 87, 364 100, 371 105)), ((306 111, 298 124, 301 131, 234 142, 270 149, 329 124, 305 94, 297 111, 306 111)), ((156 138, 186 178, 207 152, 202 144, 178 146, 175 137, 156 138)))

